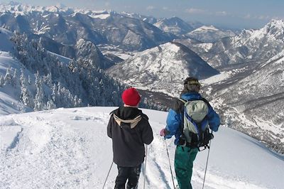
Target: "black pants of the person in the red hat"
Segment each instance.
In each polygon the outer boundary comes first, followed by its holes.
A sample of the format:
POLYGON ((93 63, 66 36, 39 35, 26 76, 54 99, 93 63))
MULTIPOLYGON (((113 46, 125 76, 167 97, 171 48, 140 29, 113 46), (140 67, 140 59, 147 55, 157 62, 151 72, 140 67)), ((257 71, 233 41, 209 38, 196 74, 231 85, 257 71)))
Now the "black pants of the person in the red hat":
POLYGON ((117 166, 119 169, 119 175, 116 177, 116 185, 114 189, 125 189, 125 183, 128 179, 126 189, 137 189, 138 180, 141 172, 141 165, 137 167, 121 167, 117 166))

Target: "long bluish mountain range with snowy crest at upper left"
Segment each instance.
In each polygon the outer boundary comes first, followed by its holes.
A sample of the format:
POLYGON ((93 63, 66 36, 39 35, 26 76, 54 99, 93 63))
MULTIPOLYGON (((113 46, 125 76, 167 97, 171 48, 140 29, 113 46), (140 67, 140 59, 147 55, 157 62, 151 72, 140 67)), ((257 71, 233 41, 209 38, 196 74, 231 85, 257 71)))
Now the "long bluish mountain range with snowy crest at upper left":
POLYGON ((0 6, 0 26, 11 31, 34 33, 64 45, 75 45, 80 38, 98 45, 120 45, 128 50, 144 50, 171 41, 173 36, 151 23, 114 11, 86 11, 61 8, 0 6))

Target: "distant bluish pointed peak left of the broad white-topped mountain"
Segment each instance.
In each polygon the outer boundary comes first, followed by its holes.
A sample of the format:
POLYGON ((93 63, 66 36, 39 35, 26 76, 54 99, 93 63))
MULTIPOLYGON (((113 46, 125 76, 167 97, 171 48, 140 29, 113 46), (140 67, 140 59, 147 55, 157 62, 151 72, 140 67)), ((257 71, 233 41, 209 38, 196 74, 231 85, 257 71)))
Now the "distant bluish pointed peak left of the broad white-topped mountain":
POLYGON ((182 21, 182 19, 178 17, 160 18, 156 23, 153 24, 161 30, 168 33, 173 33, 176 36, 181 36, 182 34, 189 33, 190 31, 194 30, 189 23, 182 21))

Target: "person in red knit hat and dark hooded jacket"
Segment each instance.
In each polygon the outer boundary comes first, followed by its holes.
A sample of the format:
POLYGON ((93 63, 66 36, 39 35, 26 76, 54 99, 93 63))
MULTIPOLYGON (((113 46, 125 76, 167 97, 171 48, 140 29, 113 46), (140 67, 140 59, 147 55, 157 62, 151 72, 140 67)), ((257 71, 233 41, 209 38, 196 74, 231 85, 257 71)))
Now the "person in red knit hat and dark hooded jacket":
POLYGON ((141 164, 145 157, 144 144, 151 144, 153 131, 148 117, 138 109, 140 95, 135 88, 122 93, 124 106, 111 112, 107 135, 112 139, 114 163, 119 174, 116 177, 115 189, 138 188, 141 164))

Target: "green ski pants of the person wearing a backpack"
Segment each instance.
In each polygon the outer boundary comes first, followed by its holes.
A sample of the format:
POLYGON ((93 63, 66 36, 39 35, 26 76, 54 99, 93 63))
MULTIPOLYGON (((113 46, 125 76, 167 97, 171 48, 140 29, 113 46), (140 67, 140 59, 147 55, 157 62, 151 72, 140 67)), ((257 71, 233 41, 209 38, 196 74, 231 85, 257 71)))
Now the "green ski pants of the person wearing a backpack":
POLYGON ((197 155, 197 148, 177 146, 175 148, 175 175, 180 189, 192 189, 190 183, 193 161, 197 155))

